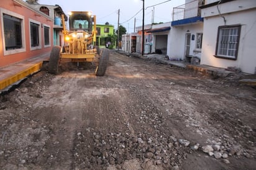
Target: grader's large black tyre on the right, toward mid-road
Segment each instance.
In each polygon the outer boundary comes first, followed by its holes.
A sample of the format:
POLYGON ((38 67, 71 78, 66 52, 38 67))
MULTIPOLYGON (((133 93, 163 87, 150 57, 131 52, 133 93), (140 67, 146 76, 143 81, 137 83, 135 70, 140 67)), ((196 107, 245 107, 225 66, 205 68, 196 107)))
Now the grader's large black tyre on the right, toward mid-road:
POLYGON ((99 58, 99 65, 96 68, 96 76, 104 76, 107 69, 107 62, 109 61, 109 50, 104 48, 101 58, 99 58))

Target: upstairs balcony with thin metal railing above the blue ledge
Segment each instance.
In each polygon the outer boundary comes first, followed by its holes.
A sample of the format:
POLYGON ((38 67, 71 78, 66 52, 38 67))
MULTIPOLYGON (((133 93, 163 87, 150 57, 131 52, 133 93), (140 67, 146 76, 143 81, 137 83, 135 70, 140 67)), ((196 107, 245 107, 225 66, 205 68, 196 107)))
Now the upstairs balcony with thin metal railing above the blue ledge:
POLYGON ((203 4, 204 0, 194 0, 181 6, 173 7, 173 20, 201 16, 201 9, 199 9, 199 6, 203 4))

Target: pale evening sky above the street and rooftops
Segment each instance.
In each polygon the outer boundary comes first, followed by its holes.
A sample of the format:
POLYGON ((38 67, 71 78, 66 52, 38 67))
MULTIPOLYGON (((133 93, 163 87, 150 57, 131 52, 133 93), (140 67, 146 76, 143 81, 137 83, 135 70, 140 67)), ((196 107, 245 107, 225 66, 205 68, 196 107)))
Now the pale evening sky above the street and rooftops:
MULTIPOLYGON (((171 22, 173 7, 185 4, 185 0, 166 1, 167 0, 144 0, 144 24, 151 24, 152 18, 154 23, 171 22), (160 4, 162 2, 164 3, 160 4), (152 15, 153 13, 154 15, 152 15)), ((39 3, 47 5, 58 4, 62 7, 66 15, 68 15, 70 11, 91 11, 93 15, 96 15, 97 24, 109 22, 110 25, 114 25, 115 29, 117 29, 118 10, 120 9, 119 23, 123 27, 126 27, 127 33, 134 32, 134 25, 135 27, 142 25, 142 0, 39 0, 39 3)))

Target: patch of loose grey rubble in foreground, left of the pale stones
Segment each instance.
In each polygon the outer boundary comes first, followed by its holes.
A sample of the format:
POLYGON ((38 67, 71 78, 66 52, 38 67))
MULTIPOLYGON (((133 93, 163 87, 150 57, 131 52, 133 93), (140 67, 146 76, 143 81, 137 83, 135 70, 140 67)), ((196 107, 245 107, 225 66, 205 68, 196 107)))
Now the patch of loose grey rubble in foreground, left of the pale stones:
POLYGON ((133 159, 138 159, 140 166, 150 160, 158 168, 178 168, 190 153, 189 147, 181 145, 174 136, 103 134, 87 129, 78 132, 76 138, 74 157, 76 168, 81 169, 113 165, 121 169, 125 161, 133 159))

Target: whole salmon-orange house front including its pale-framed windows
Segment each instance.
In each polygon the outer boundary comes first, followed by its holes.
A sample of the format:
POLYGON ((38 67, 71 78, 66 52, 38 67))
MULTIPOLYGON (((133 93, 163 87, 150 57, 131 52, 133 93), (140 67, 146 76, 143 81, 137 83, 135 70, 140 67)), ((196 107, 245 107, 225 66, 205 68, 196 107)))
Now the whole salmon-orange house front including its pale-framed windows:
POLYGON ((53 20, 21 0, 1 0, 0 67, 50 54, 53 20))

